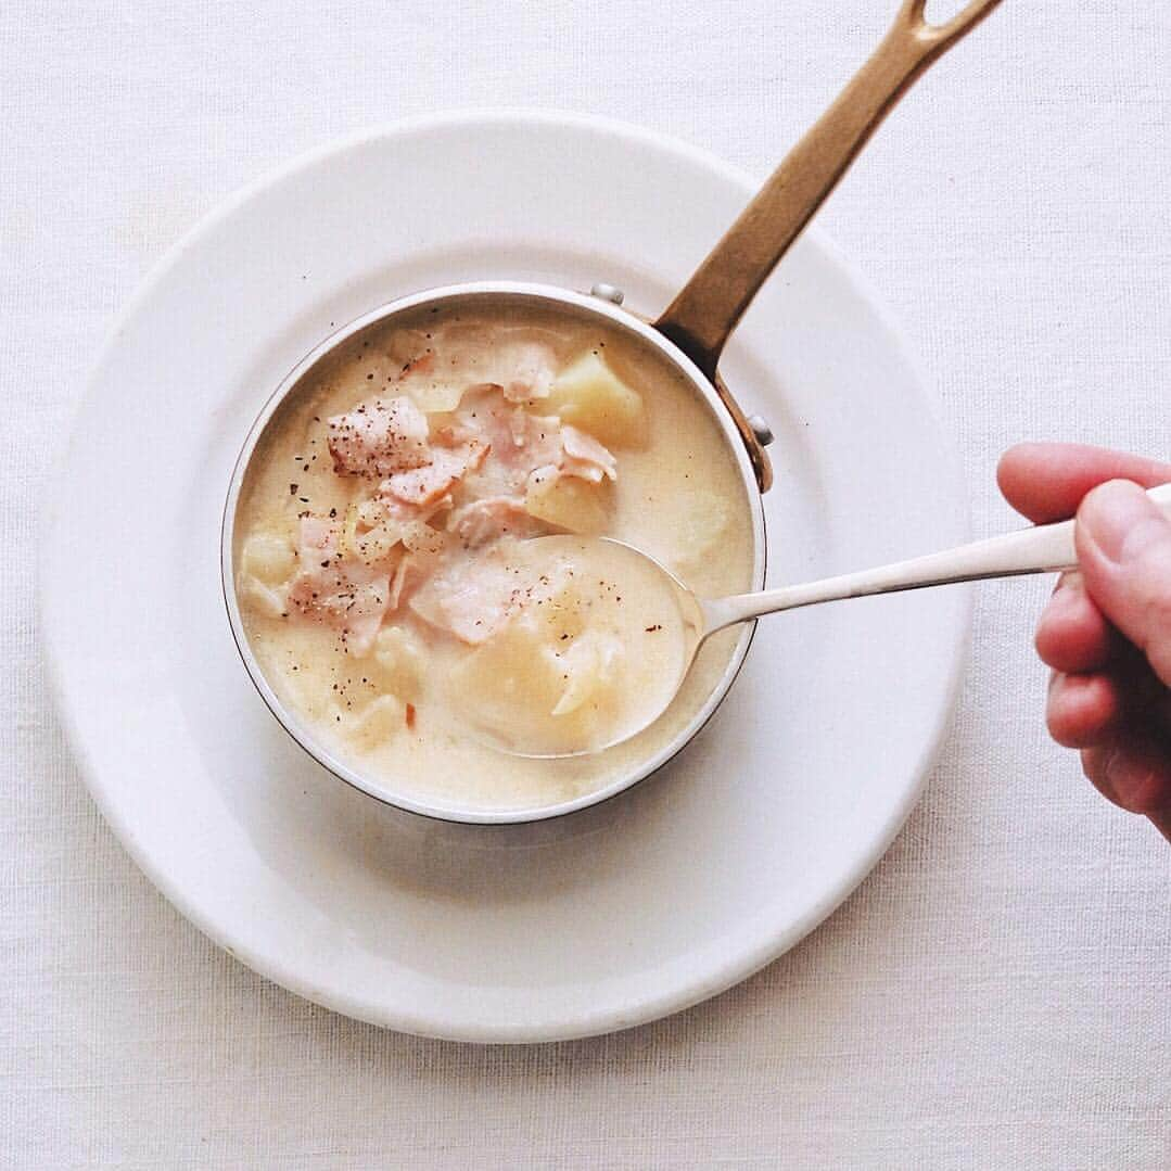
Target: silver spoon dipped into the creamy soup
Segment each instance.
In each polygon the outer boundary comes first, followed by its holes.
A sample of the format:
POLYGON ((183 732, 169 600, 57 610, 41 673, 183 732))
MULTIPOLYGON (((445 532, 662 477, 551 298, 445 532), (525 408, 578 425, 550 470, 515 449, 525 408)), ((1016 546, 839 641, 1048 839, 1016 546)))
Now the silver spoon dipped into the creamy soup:
MULTIPOLYGON (((1148 495, 1171 518, 1171 484, 1151 488, 1148 495)), ((670 587, 669 594, 673 594, 678 603, 673 616, 664 615, 662 635, 664 638, 678 639, 682 650, 678 656, 678 660, 682 662, 678 677, 656 679, 653 694, 644 689, 644 703, 629 720, 619 721, 612 728, 605 730, 610 734, 596 738, 587 747, 569 752, 529 751, 523 744, 516 742, 515 735, 509 735, 507 739, 499 734, 492 737, 497 747, 502 747, 513 755, 540 759, 581 756, 601 752, 629 740, 649 727, 666 711, 683 686, 699 648, 707 638, 727 626, 760 618, 766 614, 819 605, 822 602, 925 589, 930 586, 949 586, 956 582, 1057 573, 1074 569, 1077 564, 1074 521, 1068 520, 1054 525, 1039 525, 985 541, 961 545, 941 553, 930 553, 922 557, 912 557, 910 561, 898 561, 890 566, 842 574, 822 581, 785 586, 755 594, 700 598, 653 557, 622 541, 610 537, 542 536, 525 543, 534 553, 549 557, 559 553, 588 557, 591 547, 604 548, 607 569, 611 578, 616 576, 617 566, 618 575, 625 576, 631 586, 639 578, 645 581, 648 567, 653 567, 659 575, 660 584, 670 587)))

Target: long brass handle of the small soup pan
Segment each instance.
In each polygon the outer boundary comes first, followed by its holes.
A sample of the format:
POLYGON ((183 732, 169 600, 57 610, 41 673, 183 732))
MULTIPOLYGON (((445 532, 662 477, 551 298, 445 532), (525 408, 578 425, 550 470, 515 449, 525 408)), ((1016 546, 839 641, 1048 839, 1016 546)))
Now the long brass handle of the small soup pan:
MULTIPOLYGON (((919 74, 987 16, 1000 0, 973 0, 930 25, 926 0, 904 0, 890 32, 837 101, 789 151, 760 193, 655 322, 710 378, 728 335, 826 197, 919 74)), ((742 413, 718 386, 738 426, 742 413)), ((740 426, 753 463, 762 457, 740 426)), ((759 475, 758 466, 758 475, 759 475)))

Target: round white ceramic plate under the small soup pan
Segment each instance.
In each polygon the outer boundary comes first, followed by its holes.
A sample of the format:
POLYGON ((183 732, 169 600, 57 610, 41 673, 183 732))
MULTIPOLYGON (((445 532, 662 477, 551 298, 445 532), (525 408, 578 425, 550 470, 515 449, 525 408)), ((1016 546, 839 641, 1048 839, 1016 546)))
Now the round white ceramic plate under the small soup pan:
MULTIPOLYGON (((413 123, 245 191, 123 314, 54 484, 48 659, 115 831, 252 967, 413 1033, 601 1033, 780 954, 898 830, 946 726, 966 590, 766 619, 673 767, 583 814, 499 829, 399 814, 324 773, 253 691, 224 612, 232 463, 335 323, 473 278, 604 280, 655 311, 752 189, 611 123, 413 123)), ((957 461, 912 364, 823 244, 793 251, 723 369, 778 433, 773 581, 963 539, 957 461)))

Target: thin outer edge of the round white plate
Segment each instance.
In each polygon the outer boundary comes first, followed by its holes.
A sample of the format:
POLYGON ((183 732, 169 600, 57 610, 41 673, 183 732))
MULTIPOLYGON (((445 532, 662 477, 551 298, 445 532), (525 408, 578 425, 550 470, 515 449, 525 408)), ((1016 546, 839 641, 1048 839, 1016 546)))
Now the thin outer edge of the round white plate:
MULTIPOLYGON (((244 184, 217 201, 207 212, 200 215, 174 242, 172 242, 146 274, 122 308, 112 316, 104 340, 90 363, 85 377, 84 390, 71 405, 67 416, 63 433, 64 441, 60 445, 56 457, 48 471, 48 484, 60 484, 61 473, 69 464, 70 456, 80 439, 78 427, 87 408, 98 395, 98 375, 115 352, 121 336, 139 309, 150 301, 156 288, 183 256, 196 246, 205 233, 212 232, 224 220, 228 219, 240 207, 267 189, 290 179, 302 171, 337 155, 362 148, 369 143, 390 138, 408 138, 416 135, 433 133, 441 130, 461 128, 474 130, 485 126, 554 126, 581 129, 601 132, 608 137, 623 138, 632 146, 649 148, 680 157, 685 162, 704 167, 719 176, 745 193, 745 198, 756 191, 759 183, 745 170, 727 163, 719 156, 697 146, 674 135, 651 130, 635 123, 602 115, 577 111, 560 111, 555 109, 523 109, 509 107, 492 107, 475 109, 453 109, 436 114, 419 115, 404 119, 375 123, 348 135, 330 138, 317 146, 302 151, 287 162, 269 169, 255 179, 244 184)), ((878 295, 876 287, 847 256, 845 252, 820 232, 815 226, 803 233, 819 251, 824 261, 836 269, 836 274, 849 286, 852 286, 867 308, 874 314, 877 323, 888 335, 892 350, 905 363, 916 386, 919 405, 925 420, 933 432, 945 459, 943 465, 951 468, 946 494, 957 506, 957 528, 966 537, 971 533, 971 505, 961 472, 959 448, 951 429, 944 425, 938 397, 931 392, 930 383, 924 376, 923 365, 916 351, 910 345, 906 334, 893 316, 885 301, 878 295)), ((961 680, 966 673, 972 646, 972 619, 974 591, 971 586, 953 587, 953 596, 960 600, 952 618, 953 630, 949 632, 950 669, 946 685, 941 689, 941 703, 933 714, 930 734, 923 737, 922 747, 913 766, 913 783, 909 785, 902 799, 892 807, 890 816, 882 827, 876 827, 872 844, 869 850, 860 854, 849 869, 849 875, 841 881, 824 898, 810 905, 803 916, 789 924, 786 930, 773 933, 761 933, 754 947, 741 951, 737 961, 724 965, 715 973, 708 973, 704 979, 692 981, 682 991, 676 986, 671 991, 644 997, 635 1004, 621 1009, 604 1013, 573 1011, 563 1014, 557 1022, 545 1022, 542 1026, 530 1023, 513 1025, 509 1021, 497 1021, 491 1026, 468 1027, 460 1022, 459 1027, 444 1029, 432 1014, 419 1014, 409 1006, 397 1005, 393 1011, 372 1012, 365 1004, 348 1000, 344 995, 313 986, 294 968, 271 956, 259 956, 245 940, 231 937, 211 916, 193 905, 184 889, 172 883, 165 871, 155 867, 148 852, 136 840, 126 820, 118 813, 111 790, 103 783, 102 769, 97 766, 93 752, 87 746, 84 737, 76 723, 74 713, 66 698, 66 670, 61 651, 52 634, 50 622, 50 586, 48 584, 48 562, 50 548, 54 546, 60 527, 60 489, 50 488, 52 497, 48 508, 48 537, 42 545, 36 559, 36 629, 42 648, 42 663, 50 698, 62 734, 69 746, 78 773, 85 787, 101 812, 103 819, 114 831, 115 837, 131 860, 156 889, 174 906, 174 909, 197 927, 218 947, 246 964, 261 977, 279 984, 311 1002, 338 1012, 355 1020, 364 1021, 383 1028, 410 1033, 439 1040, 472 1043, 507 1043, 528 1045, 574 1040, 586 1036, 603 1035, 637 1025, 648 1023, 663 1016, 690 1008, 711 997, 742 982, 761 968, 780 958, 813 930, 826 922, 858 888, 874 870, 878 861, 889 850, 895 837, 905 824, 911 812, 918 804, 924 787, 937 762, 954 720, 956 701, 961 680)), ((405 816, 413 816, 405 814, 405 816)))

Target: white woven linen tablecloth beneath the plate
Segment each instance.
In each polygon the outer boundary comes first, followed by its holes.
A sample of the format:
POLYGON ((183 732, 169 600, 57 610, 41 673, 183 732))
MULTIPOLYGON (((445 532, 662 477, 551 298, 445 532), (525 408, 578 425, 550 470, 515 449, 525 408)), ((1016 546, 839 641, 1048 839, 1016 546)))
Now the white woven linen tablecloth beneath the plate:
MULTIPOLYGON (((477 105, 614 115, 763 176, 893 7, 0 7, 0 1164, 1171 1166, 1171 849, 1043 735, 1041 582, 980 589, 926 796, 829 923, 713 1002, 546 1047, 379 1032, 218 951, 102 822, 42 678, 42 493, 84 371, 228 192, 477 105)), ((1016 439, 1171 454, 1169 68, 1159 0, 1007 0, 821 217, 918 350, 979 534, 1011 522, 1016 439)))

